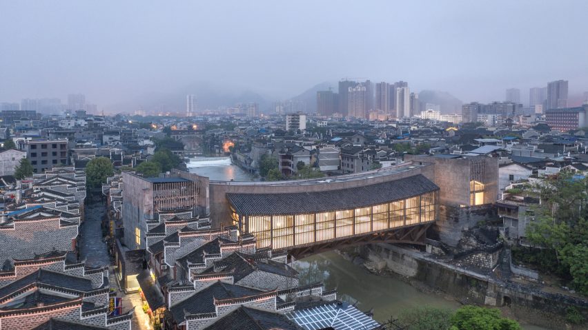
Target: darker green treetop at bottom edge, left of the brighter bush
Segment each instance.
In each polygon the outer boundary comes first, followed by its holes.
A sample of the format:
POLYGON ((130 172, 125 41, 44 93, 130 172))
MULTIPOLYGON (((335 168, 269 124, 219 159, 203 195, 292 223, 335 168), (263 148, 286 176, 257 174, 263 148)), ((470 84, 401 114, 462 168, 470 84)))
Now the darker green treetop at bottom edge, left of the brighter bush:
POLYGON ((398 325, 406 330, 447 330, 452 315, 451 309, 428 306, 405 309, 398 316, 398 325))

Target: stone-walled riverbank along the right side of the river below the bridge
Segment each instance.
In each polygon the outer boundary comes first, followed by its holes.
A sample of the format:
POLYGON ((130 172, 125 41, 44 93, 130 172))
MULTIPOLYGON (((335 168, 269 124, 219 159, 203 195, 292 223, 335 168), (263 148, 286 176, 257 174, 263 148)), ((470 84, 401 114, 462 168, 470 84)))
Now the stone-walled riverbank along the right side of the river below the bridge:
POLYGON ((588 313, 586 300, 543 293, 531 287, 500 282, 483 274, 429 258, 420 251, 394 245, 370 245, 345 251, 347 258, 382 278, 403 280, 431 296, 443 296, 463 304, 502 309, 505 316, 519 320, 525 329, 585 329, 566 324, 567 308, 588 313))

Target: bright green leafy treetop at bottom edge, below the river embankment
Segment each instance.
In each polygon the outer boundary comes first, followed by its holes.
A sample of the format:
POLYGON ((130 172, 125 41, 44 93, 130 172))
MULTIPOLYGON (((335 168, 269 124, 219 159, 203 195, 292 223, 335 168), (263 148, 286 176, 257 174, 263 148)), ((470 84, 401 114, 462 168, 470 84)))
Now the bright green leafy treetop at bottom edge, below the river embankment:
POLYGON ((467 305, 451 317, 451 330, 520 330, 518 322, 503 318, 499 309, 467 305))

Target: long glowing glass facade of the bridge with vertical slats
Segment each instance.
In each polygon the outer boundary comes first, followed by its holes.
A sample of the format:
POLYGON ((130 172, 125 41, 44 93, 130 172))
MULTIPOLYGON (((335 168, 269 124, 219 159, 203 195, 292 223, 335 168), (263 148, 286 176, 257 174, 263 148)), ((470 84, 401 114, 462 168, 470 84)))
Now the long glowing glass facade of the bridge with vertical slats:
POLYGON ((233 224, 255 235, 258 248, 287 249, 437 220, 438 194, 304 214, 239 214, 233 206, 231 211, 233 224))

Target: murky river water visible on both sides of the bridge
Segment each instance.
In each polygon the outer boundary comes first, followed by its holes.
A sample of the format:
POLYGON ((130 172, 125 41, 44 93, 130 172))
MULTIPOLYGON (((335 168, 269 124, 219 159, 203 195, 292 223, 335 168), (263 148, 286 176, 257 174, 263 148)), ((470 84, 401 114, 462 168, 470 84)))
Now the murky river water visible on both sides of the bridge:
MULTIPOLYGON (((208 176, 211 181, 253 181, 254 178, 228 157, 191 158, 190 172, 208 176)), ((297 260, 293 267, 300 273, 300 284, 324 282, 326 289, 337 289, 337 298, 357 302, 362 311, 373 309, 375 320, 386 322, 403 309, 429 305, 457 309, 458 302, 450 297, 424 293, 408 283, 389 276, 371 274, 362 265, 355 265, 334 251, 297 260)), ((525 330, 547 330, 523 325, 525 330)))

